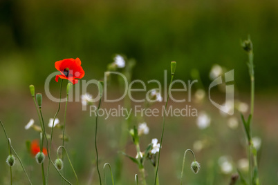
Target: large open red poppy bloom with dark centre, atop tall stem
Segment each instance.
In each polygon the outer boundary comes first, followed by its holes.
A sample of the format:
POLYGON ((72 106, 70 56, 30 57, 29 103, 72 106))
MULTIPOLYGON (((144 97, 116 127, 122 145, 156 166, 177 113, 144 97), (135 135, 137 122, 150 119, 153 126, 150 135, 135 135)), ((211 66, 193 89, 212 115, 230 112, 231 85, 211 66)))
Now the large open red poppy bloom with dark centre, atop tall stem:
POLYGON ((63 59, 55 62, 55 68, 61 72, 62 75, 56 75, 56 81, 58 79, 68 79, 73 84, 78 82, 78 79, 82 79, 85 75, 83 68, 81 67, 81 61, 76 59, 63 59))

